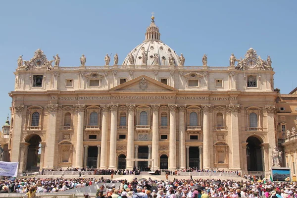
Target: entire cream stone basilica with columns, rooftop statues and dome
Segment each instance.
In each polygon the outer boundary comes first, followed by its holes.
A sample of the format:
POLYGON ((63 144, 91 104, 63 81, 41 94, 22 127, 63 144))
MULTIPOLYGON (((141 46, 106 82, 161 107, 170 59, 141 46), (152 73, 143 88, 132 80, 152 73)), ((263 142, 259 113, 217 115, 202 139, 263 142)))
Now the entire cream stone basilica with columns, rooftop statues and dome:
POLYGON ((89 67, 84 59, 78 67, 51 66, 40 49, 19 64, 9 93, 10 160, 20 162, 19 171, 36 168, 27 159, 41 148, 39 169, 137 165, 269 175, 278 145, 271 62, 248 49, 230 66, 184 66, 159 39, 152 20, 144 49, 133 49, 122 65, 89 67), (137 65, 138 58, 149 61, 137 65))

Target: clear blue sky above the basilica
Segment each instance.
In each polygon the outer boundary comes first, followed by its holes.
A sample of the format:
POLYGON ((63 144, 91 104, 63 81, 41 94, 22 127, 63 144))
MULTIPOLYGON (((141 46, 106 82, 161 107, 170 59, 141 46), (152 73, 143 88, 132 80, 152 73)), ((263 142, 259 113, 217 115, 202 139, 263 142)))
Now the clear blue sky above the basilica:
POLYGON ((41 48, 48 59, 58 53, 60 66, 104 64, 106 53, 119 63, 142 43, 151 12, 161 40, 186 66, 229 66, 229 57, 257 50, 270 55, 275 88, 288 94, 297 87, 296 0, 2 0, 0 1, 0 125, 4 124, 14 89, 17 58, 33 57, 41 48), (2 124, 1 124, 2 123, 2 124))

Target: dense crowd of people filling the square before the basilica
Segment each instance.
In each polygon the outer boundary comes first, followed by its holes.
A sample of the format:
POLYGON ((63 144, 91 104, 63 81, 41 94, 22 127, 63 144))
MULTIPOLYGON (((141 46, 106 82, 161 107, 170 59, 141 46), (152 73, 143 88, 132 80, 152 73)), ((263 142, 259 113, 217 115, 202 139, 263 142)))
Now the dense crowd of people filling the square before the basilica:
MULTIPOLYGON (((174 179, 142 180, 137 177, 132 182, 126 180, 110 180, 95 178, 56 178, 56 179, 17 179, 3 178, 0 181, 0 193, 55 193, 68 189, 81 188, 100 183, 109 184, 109 188, 101 186, 99 198, 297 198, 297 182, 271 182, 269 180, 254 181, 220 180, 220 179, 174 179), (111 197, 109 197, 111 196, 111 197)), ((259 178, 256 178, 259 179, 259 178)), ((107 186, 107 185, 106 185, 107 186)))

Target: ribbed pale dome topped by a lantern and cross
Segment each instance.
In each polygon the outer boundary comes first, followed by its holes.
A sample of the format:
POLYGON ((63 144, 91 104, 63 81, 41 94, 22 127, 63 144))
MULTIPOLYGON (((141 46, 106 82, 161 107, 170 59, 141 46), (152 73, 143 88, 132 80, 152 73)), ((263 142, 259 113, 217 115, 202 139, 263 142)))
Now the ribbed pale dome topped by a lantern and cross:
POLYGON ((162 65, 178 66, 179 56, 160 40, 159 28, 154 23, 154 16, 147 28, 145 40, 132 49, 124 59, 123 65, 162 65))

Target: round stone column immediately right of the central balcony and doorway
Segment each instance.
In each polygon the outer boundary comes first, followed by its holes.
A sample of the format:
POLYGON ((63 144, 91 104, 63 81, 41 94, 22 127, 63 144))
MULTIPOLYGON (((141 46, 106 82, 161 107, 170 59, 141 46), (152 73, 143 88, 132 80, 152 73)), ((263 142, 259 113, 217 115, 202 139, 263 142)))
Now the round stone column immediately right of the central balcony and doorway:
POLYGON ((159 107, 160 104, 150 104, 152 108, 152 140, 151 140, 151 158, 153 159, 152 168, 159 167, 159 107))

